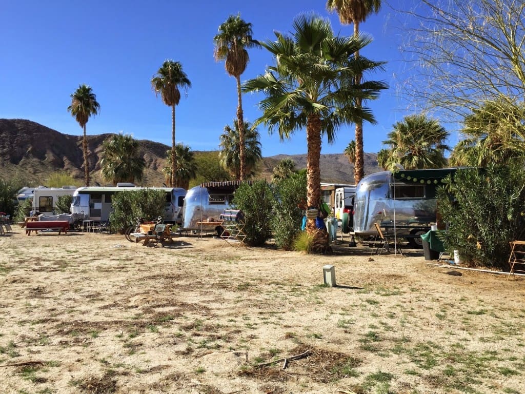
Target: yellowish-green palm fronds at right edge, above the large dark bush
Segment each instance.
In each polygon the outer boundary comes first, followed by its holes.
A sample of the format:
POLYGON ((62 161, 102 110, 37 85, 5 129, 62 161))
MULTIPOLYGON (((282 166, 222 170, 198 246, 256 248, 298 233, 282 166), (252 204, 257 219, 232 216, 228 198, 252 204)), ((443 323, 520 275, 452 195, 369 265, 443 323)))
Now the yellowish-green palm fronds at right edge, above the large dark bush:
POLYGON ((451 165, 486 167, 505 164, 525 154, 525 108, 499 99, 482 103, 465 117, 458 142, 450 155, 451 165))

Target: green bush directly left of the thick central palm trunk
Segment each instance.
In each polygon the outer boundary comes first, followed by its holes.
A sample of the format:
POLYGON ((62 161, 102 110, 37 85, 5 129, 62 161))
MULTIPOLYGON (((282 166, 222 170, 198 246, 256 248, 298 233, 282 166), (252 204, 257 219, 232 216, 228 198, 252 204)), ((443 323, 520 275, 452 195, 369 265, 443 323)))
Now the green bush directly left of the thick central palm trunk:
POLYGON ((271 221, 275 244, 284 250, 291 250, 301 230, 303 211, 299 204, 306 201, 306 173, 293 174, 279 181, 276 195, 271 221))

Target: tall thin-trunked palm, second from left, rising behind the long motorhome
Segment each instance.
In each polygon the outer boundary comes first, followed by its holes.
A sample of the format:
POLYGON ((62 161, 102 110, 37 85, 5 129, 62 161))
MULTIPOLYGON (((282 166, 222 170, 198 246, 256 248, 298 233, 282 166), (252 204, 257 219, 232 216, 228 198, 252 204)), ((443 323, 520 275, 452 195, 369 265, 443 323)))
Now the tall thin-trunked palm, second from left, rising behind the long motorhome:
POLYGON ((159 68, 157 74, 151 78, 151 87, 156 95, 161 95, 162 101, 165 105, 171 107, 171 163, 172 163, 172 178, 170 184, 172 188, 175 187, 176 174, 176 149, 175 149, 175 106, 181 101, 181 92, 179 88, 187 89, 192 87, 192 83, 188 76, 182 70, 182 64, 179 61, 165 60, 162 67, 159 68))

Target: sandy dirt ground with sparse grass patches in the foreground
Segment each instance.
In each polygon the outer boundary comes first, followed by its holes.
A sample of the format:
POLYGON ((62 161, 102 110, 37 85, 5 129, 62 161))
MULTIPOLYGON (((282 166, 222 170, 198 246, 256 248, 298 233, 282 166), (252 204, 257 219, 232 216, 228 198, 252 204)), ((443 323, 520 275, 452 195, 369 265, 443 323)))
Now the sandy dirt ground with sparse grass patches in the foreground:
POLYGON ((14 226, 0 246, 2 393, 525 392, 522 277, 348 244, 14 226))

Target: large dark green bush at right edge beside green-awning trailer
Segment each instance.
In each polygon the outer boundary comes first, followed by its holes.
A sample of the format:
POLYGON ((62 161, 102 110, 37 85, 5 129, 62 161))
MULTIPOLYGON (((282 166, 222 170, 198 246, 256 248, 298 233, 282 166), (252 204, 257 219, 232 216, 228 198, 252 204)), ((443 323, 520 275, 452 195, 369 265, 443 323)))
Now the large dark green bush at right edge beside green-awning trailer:
POLYGON ((448 251, 472 266, 508 270, 509 241, 525 236, 524 163, 461 169, 438 190, 448 251))

